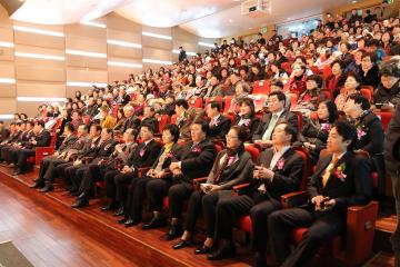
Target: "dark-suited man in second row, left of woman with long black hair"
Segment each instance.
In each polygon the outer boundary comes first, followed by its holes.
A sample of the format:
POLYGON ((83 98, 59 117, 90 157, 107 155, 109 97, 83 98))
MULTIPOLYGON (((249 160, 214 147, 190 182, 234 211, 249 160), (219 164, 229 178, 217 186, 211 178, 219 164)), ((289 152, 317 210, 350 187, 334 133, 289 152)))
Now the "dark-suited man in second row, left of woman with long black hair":
POLYGON ((221 106, 217 101, 211 101, 206 107, 207 117, 210 119, 208 132, 210 139, 224 139, 231 127, 231 120, 220 112, 221 106))

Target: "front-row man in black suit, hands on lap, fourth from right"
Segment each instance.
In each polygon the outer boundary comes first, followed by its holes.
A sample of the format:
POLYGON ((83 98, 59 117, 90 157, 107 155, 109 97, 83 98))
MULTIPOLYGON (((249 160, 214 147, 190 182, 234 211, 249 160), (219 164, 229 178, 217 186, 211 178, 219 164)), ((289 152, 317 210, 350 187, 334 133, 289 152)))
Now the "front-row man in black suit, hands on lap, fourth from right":
POLYGON ((149 224, 143 225, 143 229, 157 228, 166 224, 161 218, 162 200, 169 196, 171 228, 166 235, 167 240, 182 235, 180 218, 182 215, 183 201, 189 199, 192 192, 192 180, 208 176, 217 151, 216 145, 207 139, 208 123, 206 121, 194 121, 190 127, 191 141, 182 147, 176 160, 170 165, 172 180, 154 179, 148 182, 147 194, 154 217, 149 224))

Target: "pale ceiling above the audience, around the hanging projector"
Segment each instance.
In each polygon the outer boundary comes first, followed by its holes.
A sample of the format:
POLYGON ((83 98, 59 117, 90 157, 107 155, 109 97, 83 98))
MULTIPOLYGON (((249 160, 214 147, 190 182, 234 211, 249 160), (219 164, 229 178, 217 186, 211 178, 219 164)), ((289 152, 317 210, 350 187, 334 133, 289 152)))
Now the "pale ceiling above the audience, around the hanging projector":
POLYGON ((241 16, 242 0, 24 0, 12 19, 67 24, 93 20, 109 12, 152 27, 179 26, 206 38, 221 38, 272 22, 286 22, 351 4, 351 0, 270 0, 270 14, 241 16), (157 7, 157 8, 156 8, 157 7))

